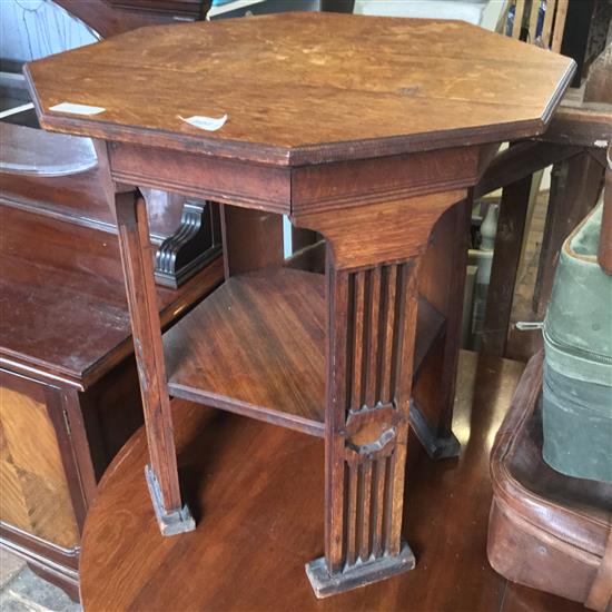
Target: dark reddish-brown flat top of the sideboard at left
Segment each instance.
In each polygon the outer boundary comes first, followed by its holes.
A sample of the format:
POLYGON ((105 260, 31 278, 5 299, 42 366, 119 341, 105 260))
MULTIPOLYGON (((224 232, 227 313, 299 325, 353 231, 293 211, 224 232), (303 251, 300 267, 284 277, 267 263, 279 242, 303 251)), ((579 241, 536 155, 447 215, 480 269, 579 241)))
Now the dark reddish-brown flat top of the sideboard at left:
MULTIPOLYGON (((0 219, 1 359, 89 385, 131 352, 117 238, 8 206, 0 219)), ((158 288, 162 320, 221 279, 218 258, 179 292, 158 288)))

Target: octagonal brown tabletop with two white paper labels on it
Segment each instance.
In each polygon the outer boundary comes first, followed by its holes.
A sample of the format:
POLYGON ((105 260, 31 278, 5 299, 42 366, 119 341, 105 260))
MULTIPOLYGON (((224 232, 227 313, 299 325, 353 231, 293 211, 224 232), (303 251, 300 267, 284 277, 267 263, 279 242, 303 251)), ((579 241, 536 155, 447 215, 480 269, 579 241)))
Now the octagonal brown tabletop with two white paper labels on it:
POLYGON ((461 21, 304 12, 141 28, 26 75, 46 129, 298 166, 539 135, 574 69, 461 21))

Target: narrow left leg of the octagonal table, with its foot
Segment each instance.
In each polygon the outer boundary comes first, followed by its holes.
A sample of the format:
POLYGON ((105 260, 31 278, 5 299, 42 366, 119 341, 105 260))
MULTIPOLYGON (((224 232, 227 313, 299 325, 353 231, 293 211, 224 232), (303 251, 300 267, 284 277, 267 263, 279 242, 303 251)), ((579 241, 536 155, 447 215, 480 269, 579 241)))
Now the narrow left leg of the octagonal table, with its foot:
POLYGON ((147 210, 139 194, 117 194, 115 210, 149 443, 145 472, 159 530, 174 535, 194 530, 195 522, 178 483, 147 210))

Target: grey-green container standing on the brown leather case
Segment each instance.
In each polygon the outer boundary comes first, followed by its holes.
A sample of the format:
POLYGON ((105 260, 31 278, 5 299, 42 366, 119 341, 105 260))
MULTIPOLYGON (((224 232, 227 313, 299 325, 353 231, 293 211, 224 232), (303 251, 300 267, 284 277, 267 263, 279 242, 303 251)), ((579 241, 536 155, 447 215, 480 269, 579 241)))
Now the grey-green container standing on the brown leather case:
POLYGON ((598 264, 602 206, 563 244, 544 320, 544 461, 612 482, 612 276, 598 264))

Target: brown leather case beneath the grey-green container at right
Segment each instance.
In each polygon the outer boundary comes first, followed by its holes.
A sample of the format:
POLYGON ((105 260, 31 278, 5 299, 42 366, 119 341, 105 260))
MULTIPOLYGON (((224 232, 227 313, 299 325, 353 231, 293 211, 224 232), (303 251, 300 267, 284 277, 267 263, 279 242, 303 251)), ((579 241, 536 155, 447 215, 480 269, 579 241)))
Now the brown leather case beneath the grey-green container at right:
POLYGON ((612 485, 542 458, 543 354, 532 357, 491 452, 488 562, 512 582, 612 610, 612 485))

